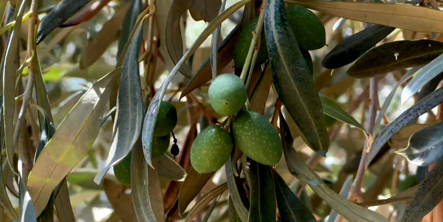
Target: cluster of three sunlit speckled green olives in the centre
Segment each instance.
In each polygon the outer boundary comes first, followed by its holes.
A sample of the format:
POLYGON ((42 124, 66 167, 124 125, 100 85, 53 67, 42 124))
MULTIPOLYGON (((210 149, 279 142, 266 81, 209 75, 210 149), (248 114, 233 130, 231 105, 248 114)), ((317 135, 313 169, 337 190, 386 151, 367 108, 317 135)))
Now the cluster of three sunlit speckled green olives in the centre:
POLYGON ((246 87, 238 76, 221 74, 209 87, 209 102, 221 116, 237 116, 230 132, 221 125, 202 130, 195 138, 190 152, 192 167, 199 173, 220 169, 231 154, 234 141, 250 159, 261 164, 275 165, 280 161, 283 147, 278 132, 260 114, 241 111, 247 100, 246 87))

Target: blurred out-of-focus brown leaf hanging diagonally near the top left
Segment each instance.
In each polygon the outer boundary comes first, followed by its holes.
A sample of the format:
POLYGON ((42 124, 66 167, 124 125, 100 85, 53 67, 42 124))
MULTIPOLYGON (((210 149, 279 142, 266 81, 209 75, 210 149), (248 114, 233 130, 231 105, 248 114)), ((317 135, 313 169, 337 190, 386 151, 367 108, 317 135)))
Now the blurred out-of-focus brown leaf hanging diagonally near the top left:
POLYGON ((96 38, 83 49, 79 62, 80 69, 86 69, 96 62, 108 49, 109 45, 117 39, 124 15, 126 15, 130 6, 131 4, 122 5, 114 16, 103 24, 96 38))

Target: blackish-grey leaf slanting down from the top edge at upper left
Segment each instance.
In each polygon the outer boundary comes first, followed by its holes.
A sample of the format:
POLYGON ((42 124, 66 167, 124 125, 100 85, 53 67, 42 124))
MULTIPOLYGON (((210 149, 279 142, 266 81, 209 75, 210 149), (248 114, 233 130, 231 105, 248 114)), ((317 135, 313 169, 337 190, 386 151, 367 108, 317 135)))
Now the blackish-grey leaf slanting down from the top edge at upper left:
POLYGON ((76 12, 80 11, 91 0, 62 0, 40 22, 37 31, 37 45, 55 28, 66 22, 76 12))

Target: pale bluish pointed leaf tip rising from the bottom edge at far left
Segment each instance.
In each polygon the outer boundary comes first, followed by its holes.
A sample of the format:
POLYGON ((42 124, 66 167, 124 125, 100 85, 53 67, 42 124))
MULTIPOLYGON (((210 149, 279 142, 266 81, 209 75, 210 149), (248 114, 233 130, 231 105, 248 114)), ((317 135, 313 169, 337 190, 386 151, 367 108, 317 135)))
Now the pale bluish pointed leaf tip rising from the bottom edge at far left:
POLYGON ((29 195, 21 175, 19 176, 19 209, 21 222, 37 222, 34 206, 32 205, 31 196, 29 195))

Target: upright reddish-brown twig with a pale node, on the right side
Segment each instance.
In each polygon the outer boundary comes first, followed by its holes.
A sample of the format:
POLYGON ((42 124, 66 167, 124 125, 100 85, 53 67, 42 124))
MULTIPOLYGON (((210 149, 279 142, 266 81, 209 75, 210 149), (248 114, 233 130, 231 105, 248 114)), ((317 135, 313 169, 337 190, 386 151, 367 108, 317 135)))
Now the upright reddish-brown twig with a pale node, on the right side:
MULTIPOLYGON (((369 118, 366 121, 367 127, 366 132, 368 133, 369 138, 372 138, 372 134, 375 126, 375 119, 377 118, 377 109, 378 105, 378 78, 371 78, 369 80, 369 98, 370 98, 370 106, 369 106, 369 118)), ((365 149, 361 154, 360 164, 358 165, 357 174, 355 176, 354 183, 352 184, 349 190, 349 199, 357 200, 358 202, 363 202, 363 198, 361 196, 361 183, 363 182, 363 177, 365 175, 365 162, 368 156, 369 148, 371 147, 372 142, 366 140, 365 149)))

